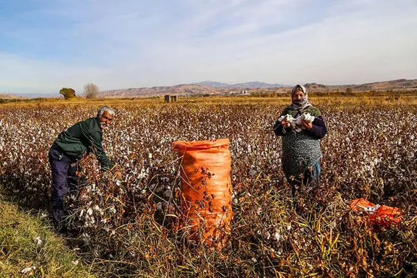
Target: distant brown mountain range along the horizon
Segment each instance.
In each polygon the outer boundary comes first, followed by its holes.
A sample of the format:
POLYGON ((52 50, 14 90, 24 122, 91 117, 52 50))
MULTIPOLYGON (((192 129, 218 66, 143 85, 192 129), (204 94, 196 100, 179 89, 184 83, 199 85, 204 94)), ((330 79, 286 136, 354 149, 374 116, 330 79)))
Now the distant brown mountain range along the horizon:
MULTIPOLYGON (((172 86, 155 86, 145 88, 128 88, 117 90, 106 90, 99 92, 99 97, 154 97, 161 95, 236 95, 247 92, 288 92, 293 85, 270 84, 259 81, 227 84, 215 81, 204 81, 199 83, 180 84, 172 86)), ((379 81, 373 83, 365 83, 361 85, 325 85, 320 83, 306 83, 309 92, 334 92, 337 90, 345 91, 351 88, 353 91, 370 91, 370 90, 412 90, 417 89, 417 79, 397 79, 391 81, 379 81)), ((82 95, 77 92, 77 95, 82 95)), ((60 95, 12 95, 1 94, 0 99, 11 98, 27 98, 27 97, 60 97, 60 95)))

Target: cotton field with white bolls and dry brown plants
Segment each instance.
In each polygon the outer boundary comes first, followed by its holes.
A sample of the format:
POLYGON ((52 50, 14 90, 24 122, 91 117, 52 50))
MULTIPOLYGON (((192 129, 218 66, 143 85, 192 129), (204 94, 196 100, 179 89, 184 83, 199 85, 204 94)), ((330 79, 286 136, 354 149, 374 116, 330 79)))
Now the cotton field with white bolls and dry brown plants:
MULTIPOLYGON (((111 104, 109 104, 112 106, 111 104)), ((301 213, 281 170, 272 104, 115 104, 106 153, 122 172, 102 174, 94 156, 67 196, 68 245, 108 277, 407 277, 417 273, 417 106, 318 105, 320 188, 301 213), (178 223, 177 140, 229 138, 231 238, 222 251, 191 243, 178 223), (372 227, 352 199, 396 206, 402 222, 372 227)), ((0 183, 24 208, 50 213, 48 151, 60 131, 98 105, 0 106, 0 183)), ((45 217, 51 223, 50 216, 45 217)))

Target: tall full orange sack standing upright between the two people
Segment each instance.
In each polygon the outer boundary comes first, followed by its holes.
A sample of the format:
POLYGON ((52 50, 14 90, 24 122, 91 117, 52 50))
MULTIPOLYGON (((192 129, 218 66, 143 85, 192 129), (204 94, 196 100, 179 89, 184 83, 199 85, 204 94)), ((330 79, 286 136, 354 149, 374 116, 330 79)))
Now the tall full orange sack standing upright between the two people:
POLYGON ((233 215, 229 139, 177 141, 172 146, 181 158, 182 226, 190 228, 191 239, 221 248, 233 215))

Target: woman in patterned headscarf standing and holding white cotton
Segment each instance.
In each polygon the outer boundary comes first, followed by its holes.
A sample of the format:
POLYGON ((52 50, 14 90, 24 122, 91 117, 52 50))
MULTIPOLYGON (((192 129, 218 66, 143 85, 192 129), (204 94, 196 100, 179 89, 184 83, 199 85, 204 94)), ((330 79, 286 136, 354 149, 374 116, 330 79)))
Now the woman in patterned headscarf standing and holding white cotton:
POLYGON ((320 139, 325 137, 327 128, 318 108, 309 104, 303 85, 295 85, 291 100, 292 104, 275 123, 274 131, 282 136, 282 167, 295 196, 301 184, 317 186, 320 181, 320 139))

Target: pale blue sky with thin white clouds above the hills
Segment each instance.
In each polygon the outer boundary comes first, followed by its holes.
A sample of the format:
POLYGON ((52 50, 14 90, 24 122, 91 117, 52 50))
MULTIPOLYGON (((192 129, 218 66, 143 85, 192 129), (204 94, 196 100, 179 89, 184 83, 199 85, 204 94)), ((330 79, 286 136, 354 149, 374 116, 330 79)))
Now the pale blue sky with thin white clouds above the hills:
POLYGON ((417 79, 416 30, 416 0, 0 0, 0 92, 417 79))

